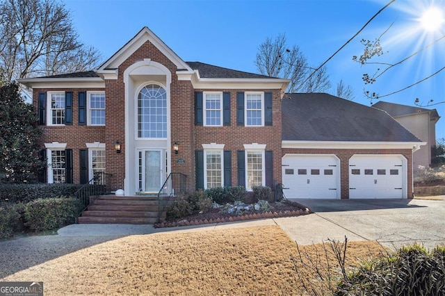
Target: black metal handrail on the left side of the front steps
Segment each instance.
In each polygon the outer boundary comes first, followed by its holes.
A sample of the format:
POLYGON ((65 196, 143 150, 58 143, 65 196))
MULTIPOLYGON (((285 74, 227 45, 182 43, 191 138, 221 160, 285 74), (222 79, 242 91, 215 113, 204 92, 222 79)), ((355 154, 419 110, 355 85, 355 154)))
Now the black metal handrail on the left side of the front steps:
POLYGON ((74 197, 79 199, 82 204, 82 210, 77 213, 79 216, 83 211, 90 206, 99 195, 108 193, 108 186, 112 174, 106 174, 105 172, 97 172, 95 176, 85 183, 79 190, 74 192, 74 197))

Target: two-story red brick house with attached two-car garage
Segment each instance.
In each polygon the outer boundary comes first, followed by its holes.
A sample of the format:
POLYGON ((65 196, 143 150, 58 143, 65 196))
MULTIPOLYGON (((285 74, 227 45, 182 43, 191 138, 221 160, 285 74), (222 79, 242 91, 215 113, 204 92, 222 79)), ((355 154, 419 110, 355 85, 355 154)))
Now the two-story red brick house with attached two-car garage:
POLYGON ((289 198, 412 197, 423 143, 386 113, 328 94, 281 101, 289 80, 184 62, 147 27, 95 71, 19 82, 44 127, 44 182, 106 172, 131 196, 181 173, 188 191, 284 183, 289 198))

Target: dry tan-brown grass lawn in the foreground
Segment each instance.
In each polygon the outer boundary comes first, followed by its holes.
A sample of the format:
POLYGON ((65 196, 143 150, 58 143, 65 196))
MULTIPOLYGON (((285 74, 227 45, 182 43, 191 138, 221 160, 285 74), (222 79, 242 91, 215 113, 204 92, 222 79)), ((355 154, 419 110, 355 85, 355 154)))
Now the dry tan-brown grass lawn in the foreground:
MULTIPOLYGON (((375 242, 348 242, 348 264, 378 254, 375 242)), ((302 246, 306 254, 314 248, 302 246)), ((299 295, 280 227, 128 236, 81 249, 2 281, 43 281, 44 295, 299 295)))

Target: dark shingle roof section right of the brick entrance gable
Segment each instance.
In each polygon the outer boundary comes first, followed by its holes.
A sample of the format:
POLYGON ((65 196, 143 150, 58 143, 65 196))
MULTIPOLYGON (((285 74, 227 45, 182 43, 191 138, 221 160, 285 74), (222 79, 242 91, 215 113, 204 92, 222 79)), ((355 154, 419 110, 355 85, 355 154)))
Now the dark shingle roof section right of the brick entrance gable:
POLYGON ((192 69, 200 72, 201 78, 237 78, 237 79, 274 79, 275 77, 248 73, 234 69, 204 64, 201 62, 186 62, 192 69))

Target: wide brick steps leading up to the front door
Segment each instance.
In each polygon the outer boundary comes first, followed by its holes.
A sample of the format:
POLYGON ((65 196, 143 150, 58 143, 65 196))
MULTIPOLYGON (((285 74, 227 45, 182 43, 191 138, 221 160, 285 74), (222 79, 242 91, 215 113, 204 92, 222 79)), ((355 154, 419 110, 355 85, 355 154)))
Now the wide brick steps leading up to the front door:
POLYGON ((101 195, 83 211, 80 224, 154 224, 158 222, 158 197, 101 195))

